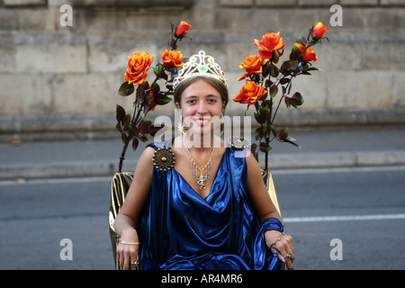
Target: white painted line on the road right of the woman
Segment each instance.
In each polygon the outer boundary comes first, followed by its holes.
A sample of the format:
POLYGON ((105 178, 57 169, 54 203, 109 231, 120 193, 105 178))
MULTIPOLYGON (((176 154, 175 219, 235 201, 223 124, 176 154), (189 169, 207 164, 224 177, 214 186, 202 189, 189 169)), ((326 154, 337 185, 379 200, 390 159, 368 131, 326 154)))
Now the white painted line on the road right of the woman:
POLYGON ((395 220, 395 219, 405 219, 405 214, 290 217, 290 218, 284 218, 284 223, 356 221, 356 220, 395 220))

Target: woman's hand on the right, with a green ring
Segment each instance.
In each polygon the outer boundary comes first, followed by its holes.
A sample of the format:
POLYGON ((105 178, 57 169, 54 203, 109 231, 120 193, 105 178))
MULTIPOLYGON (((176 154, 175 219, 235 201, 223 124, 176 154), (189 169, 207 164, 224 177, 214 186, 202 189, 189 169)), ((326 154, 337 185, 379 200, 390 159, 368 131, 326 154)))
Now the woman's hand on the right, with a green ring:
POLYGON ((267 230, 265 233, 266 245, 277 257, 293 270, 294 247, 293 238, 277 230, 267 230))

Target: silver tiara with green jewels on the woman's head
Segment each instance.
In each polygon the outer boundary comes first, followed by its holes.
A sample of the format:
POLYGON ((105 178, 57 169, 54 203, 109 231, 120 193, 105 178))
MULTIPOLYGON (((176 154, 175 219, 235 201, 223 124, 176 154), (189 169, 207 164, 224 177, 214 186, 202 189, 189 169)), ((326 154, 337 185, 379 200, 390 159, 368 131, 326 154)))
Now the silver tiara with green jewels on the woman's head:
POLYGON ((214 58, 206 55, 204 51, 190 57, 188 62, 179 71, 178 76, 173 80, 173 89, 177 87, 184 79, 193 76, 211 76, 214 77, 224 85, 229 87, 228 81, 225 78, 225 73, 220 69, 220 65, 215 63, 214 58))

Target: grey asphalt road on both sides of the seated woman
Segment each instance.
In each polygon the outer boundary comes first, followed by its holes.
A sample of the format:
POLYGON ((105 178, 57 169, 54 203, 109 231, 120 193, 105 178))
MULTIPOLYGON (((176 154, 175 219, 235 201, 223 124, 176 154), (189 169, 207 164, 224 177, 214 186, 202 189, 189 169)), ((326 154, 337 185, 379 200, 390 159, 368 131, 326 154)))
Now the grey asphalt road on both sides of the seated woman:
MULTIPOLYGON (((405 166, 275 171, 295 269, 404 269, 404 176, 405 166)), ((109 203, 109 178, 0 182, 0 269, 113 269, 109 203)))

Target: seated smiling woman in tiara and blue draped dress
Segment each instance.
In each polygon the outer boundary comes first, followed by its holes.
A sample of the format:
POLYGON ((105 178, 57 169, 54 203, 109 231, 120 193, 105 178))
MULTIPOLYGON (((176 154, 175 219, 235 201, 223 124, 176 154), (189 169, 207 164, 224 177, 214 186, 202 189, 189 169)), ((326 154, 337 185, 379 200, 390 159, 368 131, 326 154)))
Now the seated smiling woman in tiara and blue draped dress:
POLYGON ((140 269, 275 269, 282 262, 293 269, 293 240, 283 233, 256 158, 226 148, 214 133, 228 87, 213 58, 214 66, 201 68, 208 61, 200 56, 175 81, 175 105, 189 129, 148 145, 115 219, 121 269, 134 269, 138 258, 140 269), (164 171, 151 159, 166 147, 175 165, 164 171))

